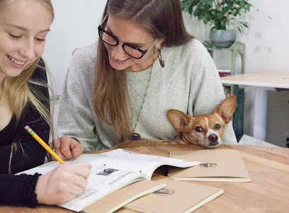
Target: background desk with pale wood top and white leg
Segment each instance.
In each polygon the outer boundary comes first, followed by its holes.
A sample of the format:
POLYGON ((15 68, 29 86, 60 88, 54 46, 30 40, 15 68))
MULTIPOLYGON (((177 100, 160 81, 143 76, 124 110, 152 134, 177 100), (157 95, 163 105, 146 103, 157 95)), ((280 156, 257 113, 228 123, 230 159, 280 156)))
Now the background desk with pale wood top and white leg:
MULTIPOLYGON (((253 137, 266 140, 267 91, 289 91, 289 71, 259 71, 221 78, 222 84, 234 84, 255 90, 253 137)), ((237 100, 238 101, 238 100, 237 100)))

